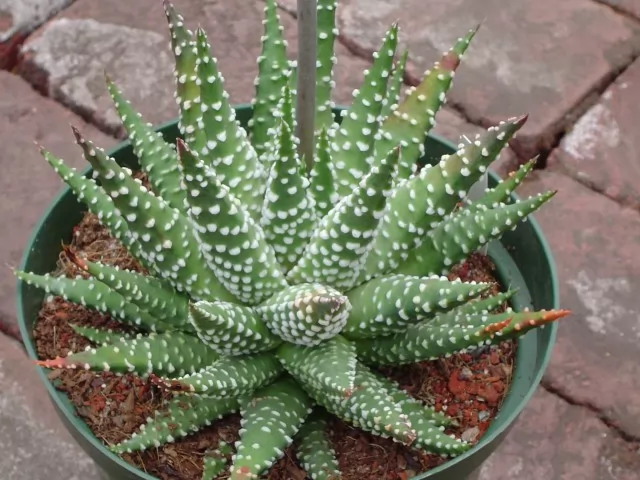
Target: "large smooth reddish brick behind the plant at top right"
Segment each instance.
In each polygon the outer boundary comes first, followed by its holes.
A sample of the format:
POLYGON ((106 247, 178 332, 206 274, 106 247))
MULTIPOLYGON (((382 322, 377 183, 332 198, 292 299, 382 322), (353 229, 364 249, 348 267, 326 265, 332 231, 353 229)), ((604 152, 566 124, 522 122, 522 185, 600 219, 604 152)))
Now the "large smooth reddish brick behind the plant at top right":
POLYGON ((377 49, 397 20, 417 73, 482 22, 449 98, 487 126, 529 113, 514 142, 523 159, 550 149, 567 114, 640 51, 635 22, 586 0, 434 0, 428 8, 421 0, 343 0, 338 16, 341 34, 361 51, 377 49))

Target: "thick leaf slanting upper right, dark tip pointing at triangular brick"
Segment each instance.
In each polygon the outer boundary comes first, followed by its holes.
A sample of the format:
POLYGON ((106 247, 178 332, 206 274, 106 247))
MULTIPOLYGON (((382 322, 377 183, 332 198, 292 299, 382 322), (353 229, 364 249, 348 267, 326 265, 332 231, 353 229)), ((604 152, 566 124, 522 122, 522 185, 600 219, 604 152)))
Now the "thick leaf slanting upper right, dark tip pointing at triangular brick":
POLYGON ((418 175, 399 184, 389 198, 380 233, 367 258, 364 279, 393 271, 406 260, 425 234, 466 197, 526 119, 524 115, 490 127, 480 140, 453 155, 443 155, 437 165, 426 166, 418 175))

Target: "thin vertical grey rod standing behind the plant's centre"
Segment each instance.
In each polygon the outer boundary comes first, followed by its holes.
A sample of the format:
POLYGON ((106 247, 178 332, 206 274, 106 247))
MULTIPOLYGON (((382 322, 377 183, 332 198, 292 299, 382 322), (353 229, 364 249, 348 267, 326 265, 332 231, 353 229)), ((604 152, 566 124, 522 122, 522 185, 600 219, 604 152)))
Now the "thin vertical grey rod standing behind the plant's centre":
POLYGON ((304 155, 308 169, 313 165, 317 28, 316 0, 298 0, 296 136, 300 139, 299 152, 304 155))

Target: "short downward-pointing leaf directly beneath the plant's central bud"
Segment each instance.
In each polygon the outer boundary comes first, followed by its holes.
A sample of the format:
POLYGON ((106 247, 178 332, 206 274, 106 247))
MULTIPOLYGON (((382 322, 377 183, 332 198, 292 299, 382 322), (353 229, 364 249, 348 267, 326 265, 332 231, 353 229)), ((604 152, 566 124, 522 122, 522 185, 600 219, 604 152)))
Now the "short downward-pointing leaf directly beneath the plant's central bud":
POLYGON ((301 377, 315 388, 345 396, 353 391, 356 350, 340 335, 315 347, 284 343, 276 356, 292 377, 301 377))

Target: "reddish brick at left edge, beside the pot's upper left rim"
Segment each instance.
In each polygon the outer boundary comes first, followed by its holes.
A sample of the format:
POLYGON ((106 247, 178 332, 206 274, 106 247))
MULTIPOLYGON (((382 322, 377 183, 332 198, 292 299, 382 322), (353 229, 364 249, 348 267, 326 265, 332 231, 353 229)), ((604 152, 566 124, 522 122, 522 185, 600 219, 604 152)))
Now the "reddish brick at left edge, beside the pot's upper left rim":
MULTIPOLYGON (((80 128, 98 145, 110 147, 115 139, 86 125, 53 100, 35 92, 20 77, 0 71, 0 316, 15 322, 15 277, 31 229, 63 183, 40 155, 34 142, 43 145, 68 164, 84 168, 81 150, 69 124, 80 128)), ((0 382, 1 383, 1 382, 0 382)))

